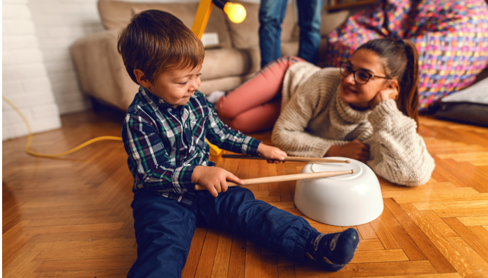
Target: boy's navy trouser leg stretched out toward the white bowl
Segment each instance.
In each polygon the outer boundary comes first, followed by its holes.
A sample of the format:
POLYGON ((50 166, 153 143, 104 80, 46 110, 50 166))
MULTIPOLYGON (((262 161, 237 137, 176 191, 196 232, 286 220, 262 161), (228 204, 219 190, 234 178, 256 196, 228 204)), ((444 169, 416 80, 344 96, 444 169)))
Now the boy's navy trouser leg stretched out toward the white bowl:
POLYGON ((199 224, 241 234, 297 261, 305 259, 307 239, 317 232, 304 218, 254 199, 250 190, 240 186, 216 198, 199 191, 192 210, 199 224))

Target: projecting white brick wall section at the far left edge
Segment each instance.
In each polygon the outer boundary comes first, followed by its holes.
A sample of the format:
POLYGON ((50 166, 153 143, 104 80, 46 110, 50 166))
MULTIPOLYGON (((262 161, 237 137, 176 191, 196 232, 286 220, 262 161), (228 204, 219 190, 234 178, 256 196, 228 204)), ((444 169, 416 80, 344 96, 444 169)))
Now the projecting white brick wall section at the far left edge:
MULTIPOLYGON (((61 126, 27 0, 2 3, 2 95, 20 109, 33 132, 61 126)), ((2 140, 24 136, 22 118, 2 101, 2 140)))

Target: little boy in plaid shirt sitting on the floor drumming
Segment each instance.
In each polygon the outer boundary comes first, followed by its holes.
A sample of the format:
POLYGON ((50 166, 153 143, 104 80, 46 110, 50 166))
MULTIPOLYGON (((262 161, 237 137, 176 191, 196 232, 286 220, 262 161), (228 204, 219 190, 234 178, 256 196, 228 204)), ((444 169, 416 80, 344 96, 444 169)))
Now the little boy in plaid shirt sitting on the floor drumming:
POLYGON ((197 224, 245 236, 269 250, 340 270, 358 245, 355 229, 320 234, 299 216, 254 199, 230 172, 208 161, 205 138, 222 149, 279 163, 286 153, 220 122, 197 89, 204 60, 199 38, 160 10, 135 15, 121 32, 125 68, 140 86, 122 137, 134 176, 137 261, 128 277, 181 277, 197 224), (195 184, 207 190, 196 191, 195 184))

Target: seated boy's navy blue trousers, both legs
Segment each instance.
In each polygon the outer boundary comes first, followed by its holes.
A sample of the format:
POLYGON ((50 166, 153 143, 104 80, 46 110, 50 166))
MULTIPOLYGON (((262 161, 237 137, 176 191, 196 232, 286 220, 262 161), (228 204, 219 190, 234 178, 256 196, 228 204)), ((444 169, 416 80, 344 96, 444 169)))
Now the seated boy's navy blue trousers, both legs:
POLYGON ((191 206, 137 190, 132 211, 137 260, 128 277, 181 277, 197 224, 245 236, 297 261, 305 259, 307 239, 317 231, 304 218, 254 199, 241 187, 216 198, 197 191, 191 206))

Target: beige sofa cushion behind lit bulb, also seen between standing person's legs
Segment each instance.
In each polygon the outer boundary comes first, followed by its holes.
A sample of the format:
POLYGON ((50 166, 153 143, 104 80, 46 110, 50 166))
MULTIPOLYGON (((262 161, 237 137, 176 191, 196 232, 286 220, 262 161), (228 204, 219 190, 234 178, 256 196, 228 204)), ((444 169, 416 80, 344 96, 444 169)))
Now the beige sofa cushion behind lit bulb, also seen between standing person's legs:
MULTIPOLYGON (((242 1, 234 1, 234 3, 241 3, 246 10, 247 16, 239 24, 231 22, 229 17, 225 17, 229 25, 232 44, 237 49, 259 47, 259 3, 242 1)), ((282 24, 282 42, 288 42, 292 39, 294 26, 295 12, 293 6, 288 4, 282 24)))

